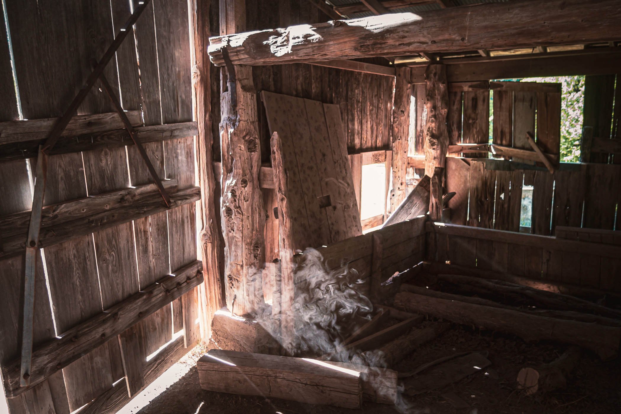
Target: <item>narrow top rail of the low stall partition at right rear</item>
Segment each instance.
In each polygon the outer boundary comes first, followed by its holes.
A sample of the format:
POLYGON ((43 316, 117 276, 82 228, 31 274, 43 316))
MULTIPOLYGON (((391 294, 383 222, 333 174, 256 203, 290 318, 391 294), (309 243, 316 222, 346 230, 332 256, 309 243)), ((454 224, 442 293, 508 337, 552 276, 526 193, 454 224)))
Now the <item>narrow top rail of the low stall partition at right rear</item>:
POLYGON ((602 243, 587 243, 585 241, 565 240, 551 236, 505 232, 504 230, 492 230, 491 228, 460 226, 456 224, 428 222, 426 225, 428 232, 436 232, 446 235, 464 236, 489 241, 502 241, 504 243, 513 243, 515 245, 539 247, 545 250, 561 250, 571 253, 592 254, 594 256, 604 256, 614 259, 621 257, 620 246, 604 245, 602 243))

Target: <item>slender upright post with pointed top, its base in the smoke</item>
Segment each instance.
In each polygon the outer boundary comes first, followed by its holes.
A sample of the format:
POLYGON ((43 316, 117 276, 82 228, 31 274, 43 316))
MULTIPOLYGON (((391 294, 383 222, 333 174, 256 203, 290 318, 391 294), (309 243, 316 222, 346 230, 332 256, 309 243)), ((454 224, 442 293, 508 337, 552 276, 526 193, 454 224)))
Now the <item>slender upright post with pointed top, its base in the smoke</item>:
MULTIPOLYGON (((283 144, 278 132, 271 137, 271 161, 274 168, 274 185, 278 200, 278 240, 280 250, 280 329, 284 350, 292 354, 295 345, 295 321, 293 316, 293 251, 291 235, 291 215, 287 204, 288 182, 283 164, 283 144)), ((278 287, 276 287, 278 289, 278 287)), ((272 308, 274 320, 277 320, 272 308)))

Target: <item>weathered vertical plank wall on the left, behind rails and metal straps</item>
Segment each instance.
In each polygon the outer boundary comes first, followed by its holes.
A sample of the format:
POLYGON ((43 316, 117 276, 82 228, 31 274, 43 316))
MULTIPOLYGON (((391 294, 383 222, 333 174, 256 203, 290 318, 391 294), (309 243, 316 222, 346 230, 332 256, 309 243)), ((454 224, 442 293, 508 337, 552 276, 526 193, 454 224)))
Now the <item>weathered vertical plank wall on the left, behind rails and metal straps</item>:
MULTIPOLYGON (((19 108, 24 119, 63 114, 91 72, 89 60, 101 58, 130 16, 129 6, 127 1, 104 0, 71 0, 61 4, 7 1, 19 108)), ((135 1, 134 7, 137 6, 135 1)), ((0 121, 16 120, 19 119, 18 102, 4 25, 0 30, 3 97, 0 121)), ((125 110, 142 110, 144 125, 191 121, 187 3, 153 1, 104 74, 120 94, 125 110)), ((114 107, 96 84, 79 107, 78 114, 103 112, 114 112, 114 107)), ((160 178, 176 179, 179 189, 195 186, 193 137, 148 143, 145 149, 160 178)), ((0 215, 30 209, 32 186, 28 162, 0 163, 0 186, 3 194, 9 195, 0 202, 0 215)), ((34 169, 34 164, 30 168, 34 169)), ((147 168, 133 146, 127 150, 105 148, 53 155, 48 163, 45 205, 150 181, 147 168)), ((35 347, 196 261, 195 212, 195 204, 191 202, 43 249, 44 261, 39 264, 36 281, 35 347)), ((5 315, 0 318, 0 364, 3 366, 19 356, 23 276, 24 256, 0 261, 3 286, 0 313, 5 315)), ((195 292, 189 292, 183 299, 186 312, 191 308, 191 312, 195 312, 195 292)), ((137 356, 142 359, 141 364, 146 364, 148 354, 170 341, 173 333, 183 329, 182 315, 182 299, 179 298, 136 325, 143 345, 137 356)), ((198 329, 197 326, 188 328, 198 329)), ((196 339, 194 336, 194 343, 196 339)), ((178 343, 176 341, 173 347, 178 343)), ((124 370, 115 336, 37 385, 37 389, 48 389, 38 395, 51 396, 51 402, 50 398, 47 402, 52 408, 46 413, 68 414, 109 392, 112 384, 122 377, 124 370)), ((124 383, 121 387, 125 387, 124 383)), ((9 398, 11 413, 43 412, 40 411, 42 406, 37 407, 39 402, 33 402, 37 397, 33 392, 9 398)))

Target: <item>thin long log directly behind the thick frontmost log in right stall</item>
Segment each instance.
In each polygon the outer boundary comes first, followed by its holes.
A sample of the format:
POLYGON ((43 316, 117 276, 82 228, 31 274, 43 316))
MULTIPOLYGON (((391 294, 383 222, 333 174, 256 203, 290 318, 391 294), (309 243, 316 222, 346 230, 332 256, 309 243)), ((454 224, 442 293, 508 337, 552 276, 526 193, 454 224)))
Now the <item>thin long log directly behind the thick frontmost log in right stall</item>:
POLYGON ((559 319, 566 319, 566 320, 577 320, 579 322, 586 322, 586 323, 599 323, 600 325, 604 325, 604 326, 621 326, 621 320, 601 317, 598 315, 589 315, 587 313, 573 312, 571 310, 516 308, 510 305, 499 304, 497 302, 493 302, 492 300, 487 300, 487 299, 483 299, 480 297, 453 295, 450 293, 438 292, 437 290, 426 289, 425 287, 412 286, 409 284, 402 284, 401 292, 410 292, 410 293, 415 293, 418 295, 437 297, 439 299, 446 299, 446 300, 458 300, 460 302, 466 302, 467 304, 491 306, 492 308, 517 310, 520 312, 527 312, 527 313, 530 313, 531 315, 538 315, 542 317, 559 318, 559 319))

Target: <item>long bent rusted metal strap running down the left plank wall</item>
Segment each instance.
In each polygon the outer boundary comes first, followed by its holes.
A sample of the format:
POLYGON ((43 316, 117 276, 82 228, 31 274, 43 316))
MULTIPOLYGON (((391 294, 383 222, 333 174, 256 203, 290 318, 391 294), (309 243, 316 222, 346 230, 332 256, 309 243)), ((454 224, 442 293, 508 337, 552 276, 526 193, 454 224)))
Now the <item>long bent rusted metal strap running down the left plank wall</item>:
POLYGON ((45 194, 45 177, 47 176, 47 154, 52 150, 53 146, 61 137, 63 131, 69 124, 71 117, 76 114, 78 107, 82 104, 88 92, 91 91, 93 85, 104 71, 112 56, 116 53, 125 37, 129 34, 132 26, 135 24, 140 14, 147 8, 150 0, 138 2, 139 6, 129 17, 125 25, 120 29, 111 45, 102 56, 101 61, 97 63, 93 73, 86 79, 86 84, 80 89, 71 104, 65 110, 65 113, 54 125, 48 134, 45 144, 39 149, 39 158, 37 158, 37 175, 35 181, 35 192, 32 199, 32 210, 30 213, 30 225, 28 230, 28 241, 26 247, 25 259, 25 282, 24 282, 24 326, 22 328, 22 363, 20 385, 28 387, 30 385, 30 367, 32 361, 32 323, 34 312, 34 286, 35 274, 37 268, 37 256, 39 256, 39 230, 41 227, 41 214, 43 207, 43 196, 45 194))

